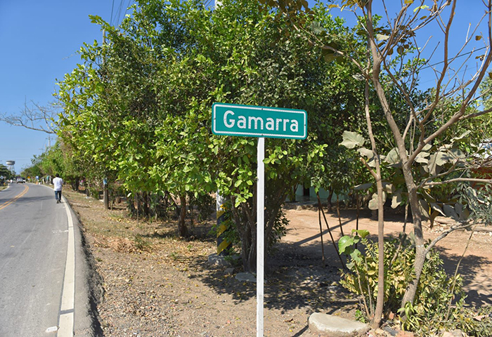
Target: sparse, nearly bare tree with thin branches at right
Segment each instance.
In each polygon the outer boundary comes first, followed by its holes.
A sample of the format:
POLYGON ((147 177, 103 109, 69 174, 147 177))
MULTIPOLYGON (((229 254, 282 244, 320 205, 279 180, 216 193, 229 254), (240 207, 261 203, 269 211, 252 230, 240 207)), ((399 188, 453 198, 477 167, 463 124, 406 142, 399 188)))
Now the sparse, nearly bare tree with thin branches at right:
MULTIPOLYGON (((425 245, 425 238, 422 232, 422 218, 430 216, 428 213, 442 213, 457 215, 461 213, 462 205, 444 204, 439 206, 430 203, 432 197, 427 197, 425 190, 429 187, 455 183, 458 181, 478 181, 490 183, 487 179, 467 178, 457 172, 465 171, 465 167, 470 167, 471 157, 467 157, 463 152, 458 152, 457 145, 462 138, 452 140, 444 138, 446 131, 459 124, 467 124, 473 118, 484 116, 491 112, 487 107, 477 107, 475 103, 479 101, 478 91, 481 81, 488 72, 488 67, 492 60, 491 53, 491 1, 484 1, 484 17, 488 22, 488 28, 484 34, 477 34, 478 25, 472 28, 467 35, 465 46, 457 54, 452 55, 450 50, 451 26, 455 15, 456 1, 430 1, 431 6, 427 6, 427 1, 404 1, 397 8, 388 8, 385 1, 380 4, 382 16, 375 15, 373 4, 376 1, 337 1, 330 5, 330 8, 350 9, 360 15, 360 34, 367 43, 367 58, 365 61, 354 58, 351 54, 353 49, 345 44, 346 37, 329 34, 323 27, 313 21, 313 11, 307 8, 305 1, 278 1, 278 18, 287 20, 291 27, 298 32, 308 34, 306 38, 313 46, 317 46, 325 51, 332 59, 345 59, 354 63, 358 67, 361 80, 365 81, 365 112, 367 126, 369 130, 371 149, 363 148, 363 138, 357 138, 351 134, 346 137, 344 143, 353 143, 353 147, 361 147, 361 160, 368 164, 368 169, 373 172, 373 176, 378 184, 377 197, 373 204, 380 209, 382 216, 382 201, 387 191, 383 190, 380 174, 380 164, 387 161, 401 174, 402 182, 406 188, 408 203, 413 215, 413 229, 415 234, 415 279, 413 279, 406 289, 405 296, 401 303, 402 308, 406 303, 411 303, 415 298, 417 284, 422 272, 422 266, 429 249, 436 244, 434 240, 431 244, 425 245), (394 15, 391 15, 394 13, 394 15), (448 15, 446 17, 446 15, 448 15), (384 18, 384 23, 382 20, 384 18), (429 55, 441 55, 442 62, 432 64, 430 58, 424 57, 425 41, 418 39, 422 33, 422 28, 435 25, 435 32, 442 33, 442 43, 436 46, 433 53, 429 55), (475 37, 472 35, 477 34, 475 37), (424 41, 421 44, 421 41, 424 41), (485 53, 479 55, 477 71, 472 72, 468 77, 458 74, 459 69, 465 67, 468 58, 463 60, 458 58, 459 53, 471 44, 484 44, 485 53), (425 67, 431 67, 436 74, 436 88, 427 100, 419 100, 417 103, 413 99, 416 90, 419 88, 419 74, 425 67), (439 68, 439 69, 438 69, 439 68), (458 69, 458 70, 457 70, 458 69), (376 139, 370 135, 370 128, 373 124, 373 111, 371 111, 369 86, 373 88, 377 95, 377 103, 384 113, 384 120, 390 130, 391 143, 394 150, 387 156, 380 155, 381 150, 377 149, 376 139), (396 113, 394 102, 391 100, 389 86, 396 90, 396 93, 403 99, 407 113, 403 116, 404 124, 401 121, 401 114, 396 113), (452 107, 448 105, 450 99, 456 103, 452 107), (448 112, 448 108, 452 110, 448 112), (439 113, 447 112, 447 114, 439 113), (438 119, 441 123, 435 123, 438 119), (369 161, 375 164, 375 169, 369 165, 369 161), (423 164, 423 165, 422 165, 423 164), (425 166, 422 168, 422 166, 425 166), (424 171, 421 171, 424 169, 424 171), (427 169, 427 171, 425 171, 427 169), (421 174, 421 173, 424 174, 421 174), (427 201, 426 198, 429 200, 427 201), (427 207, 427 209, 426 209, 427 207), (429 212, 429 210, 431 212, 429 212)), ((481 22, 479 18, 478 22, 481 22)), ((383 152, 384 153, 384 152, 383 152)), ((391 191, 392 192, 392 191, 391 191)), ((395 194, 396 202, 401 198, 395 194)), ((401 202, 401 201, 400 201, 401 202)), ((462 223, 453 230, 470 226, 469 223, 462 223)), ((382 234, 384 225, 379 226, 379 251, 382 255, 382 234)), ((447 233, 446 233, 447 234, 447 233)), ((441 235, 438 239, 442 239, 441 235)), ((380 263, 382 262, 380 258, 380 263)), ((382 275, 382 265, 380 266, 382 275)), ((384 276, 384 275, 382 275, 384 276)), ((380 279, 382 286, 382 279, 380 279)), ((381 293, 381 291, 379 292, 381 293)), ((378 299, 379 302, 379 299, 378 299)), ((382 303, 378 303, 382 308, 382 303)), ((373 320, 373 325, 380 324, 380 314, 382 310, 377 310, 373 320)))

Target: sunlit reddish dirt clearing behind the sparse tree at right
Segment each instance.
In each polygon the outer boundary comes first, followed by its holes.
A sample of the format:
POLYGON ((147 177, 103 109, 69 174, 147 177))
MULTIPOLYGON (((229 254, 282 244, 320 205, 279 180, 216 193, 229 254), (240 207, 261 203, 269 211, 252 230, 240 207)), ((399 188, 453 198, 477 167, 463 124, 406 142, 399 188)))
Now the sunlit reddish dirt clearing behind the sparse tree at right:
MULTIPOLYGON (((386 211, 384 219, 384 232, 388 236, 398 237, 403 231, 403 216, 391 214, 386 211)), ((370 211, 361 211, 359 229, 368 230, 376 239, 377 221, 370 219, 370 211)), ((354 210, 343 210, 340 212, 344 234, 350 234, 356 228, 356 212, 354 210)), ((321 235, 318 222, 318 212, 295 209, 287 210, 287 218, 290 227, 283 242, 291 244, 298 251, 317 254, 321 259, 321 235)), ((337 214, 327 214, 328 225, 335 240, 342 236, 337 214)), ((431 229, 429 223, 425 225, 424 235, 426 239, 434 239, 441 232, 448 229, 449 225, 434 223, 431 229)), ((413 231, 411 223, 406 225, 406 233, 413 231)), ((467 292, 467 303, 472 305, 492 305, 492 227, 485 231, 474 232, 470 244, 470 231, 456 231, 449 234, 437 244, 441 258, 444 260, 444 268, 448 273, 454 274, 460 258, 463 256, 458 272, 464 281, 464 290, 467 292)), ((323 221, 323 242, 325 248, 325 259, 337 262, 338 257, 331 242, 330 234, 323 221)))

